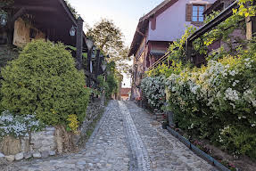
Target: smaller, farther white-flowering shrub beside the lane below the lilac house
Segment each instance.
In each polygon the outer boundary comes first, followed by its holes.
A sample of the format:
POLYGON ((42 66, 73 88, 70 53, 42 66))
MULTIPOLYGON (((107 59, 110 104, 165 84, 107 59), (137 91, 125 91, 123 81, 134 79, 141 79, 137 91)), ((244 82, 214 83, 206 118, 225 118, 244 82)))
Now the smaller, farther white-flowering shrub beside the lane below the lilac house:
POLYGON ((161 109, 165 99, 165 77, 145 77, 141 82, 143 95, 153 109, 161 109))

